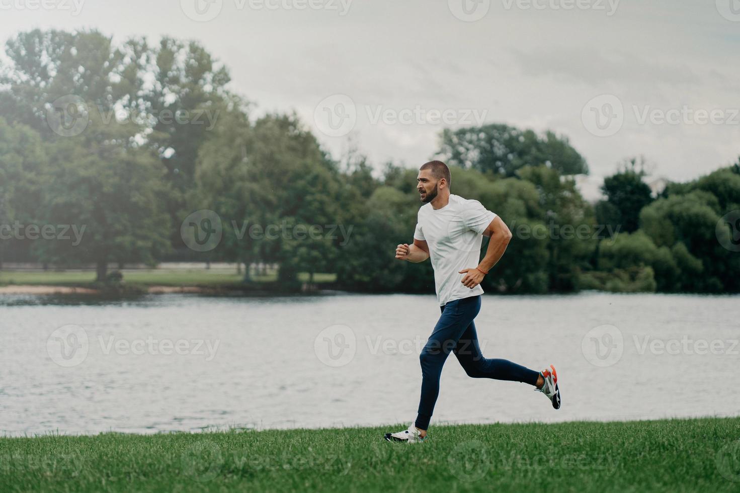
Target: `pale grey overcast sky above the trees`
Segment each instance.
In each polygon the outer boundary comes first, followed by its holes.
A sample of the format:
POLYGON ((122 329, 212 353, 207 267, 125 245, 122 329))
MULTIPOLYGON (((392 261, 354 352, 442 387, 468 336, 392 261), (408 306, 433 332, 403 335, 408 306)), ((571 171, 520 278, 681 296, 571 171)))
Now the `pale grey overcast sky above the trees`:
POLYGON ((3 38, 35 27, 195 38, 258 112, 295 110, 335 157, 353 141, 377 167, 423 164, 443 119, 554 130, 593 175, 643 154, 654 175, 686 180, 740 154, 740 0, 0 0, 0 10, 3 38))

